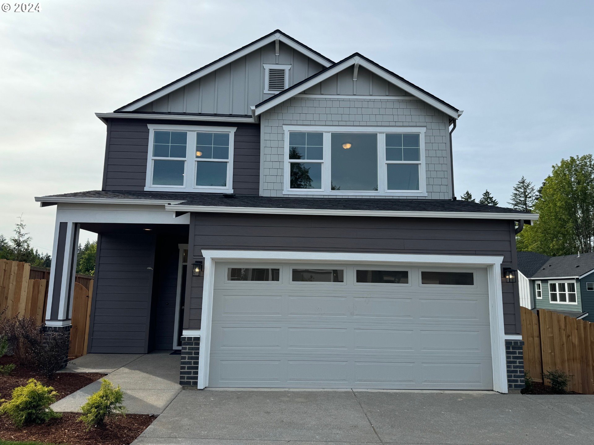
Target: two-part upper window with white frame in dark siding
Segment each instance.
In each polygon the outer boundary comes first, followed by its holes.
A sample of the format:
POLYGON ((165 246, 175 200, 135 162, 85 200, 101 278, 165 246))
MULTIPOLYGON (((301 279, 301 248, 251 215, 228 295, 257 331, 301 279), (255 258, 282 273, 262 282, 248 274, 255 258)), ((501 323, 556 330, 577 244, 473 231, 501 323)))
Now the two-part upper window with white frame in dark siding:
POLYGON ((149 125, 145 189, 232 192, 235 129, 149 125))

